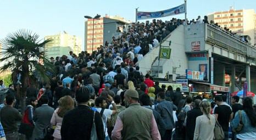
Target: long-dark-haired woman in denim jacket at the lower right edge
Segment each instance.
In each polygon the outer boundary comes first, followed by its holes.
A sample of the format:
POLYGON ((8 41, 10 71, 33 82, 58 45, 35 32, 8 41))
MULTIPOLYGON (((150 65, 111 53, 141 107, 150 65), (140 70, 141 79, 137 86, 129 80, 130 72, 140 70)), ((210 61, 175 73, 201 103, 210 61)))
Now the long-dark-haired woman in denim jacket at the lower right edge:
POLYGON ((256 138, 256 113, 253 109, 252 99, 246 97, 243 99, 243 110, 237 111, 232 120, 233 131, 237 133, 237 139, 255 139, 256 138))

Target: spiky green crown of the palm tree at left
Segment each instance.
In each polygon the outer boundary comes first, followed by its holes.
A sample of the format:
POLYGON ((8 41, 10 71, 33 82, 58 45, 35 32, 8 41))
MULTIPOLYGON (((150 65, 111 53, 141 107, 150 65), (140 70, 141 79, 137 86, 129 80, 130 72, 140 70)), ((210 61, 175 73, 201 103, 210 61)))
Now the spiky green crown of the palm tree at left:
POLYGON ((40 82, 49 82, 47 71, 54 72, 54 66, 49 63, 46 55, 46 43, 52 40, 39 40, 39 36, 30 30, 19 30, 10 33, 7 37, 0 41, 2 44, 1 62, 4 62, 0 71, 20 70, 21 73, 32 76, 37 71, 40 82), (38 63, 43 60, 43 65, 38 63))

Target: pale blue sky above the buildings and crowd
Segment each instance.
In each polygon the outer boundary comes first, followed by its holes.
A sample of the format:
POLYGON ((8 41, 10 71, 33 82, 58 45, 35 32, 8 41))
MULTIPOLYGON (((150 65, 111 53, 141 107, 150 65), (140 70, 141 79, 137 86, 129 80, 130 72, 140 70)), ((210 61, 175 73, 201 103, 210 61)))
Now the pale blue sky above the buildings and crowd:
MULTIPOLYGON (((138 11, 154 12, 183 4, 183 0, 0 0, 0 39, 19 29, 31 30, 43 39, 66 31, 82 38, 84 48, 84 15, 119 15, 135 21, 135 8, 138 11)), ((255 0, 187 0, 187 18, 196 19, 217 11, 235 9, 255 9, 255 0)), ((169 16, 184 19, 185 15, 169 16)))

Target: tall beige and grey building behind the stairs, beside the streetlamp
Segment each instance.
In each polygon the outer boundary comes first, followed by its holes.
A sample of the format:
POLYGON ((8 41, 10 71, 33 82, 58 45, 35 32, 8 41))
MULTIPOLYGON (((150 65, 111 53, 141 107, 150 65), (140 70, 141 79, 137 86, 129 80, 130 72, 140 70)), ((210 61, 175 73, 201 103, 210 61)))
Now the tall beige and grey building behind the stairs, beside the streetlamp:
POLYGON ((108 15, 94 19, 94 25, 93 19, 87 19, 85 21, 85 51, 92 53, 101 45, 104 46, 105 41, 111 42, 112 37, 118 33, 116 29, 118 27, 123 29, 125 24, 125 21, 111 19, 108 15), (94 38, 94 41, 92 38, 94 38))

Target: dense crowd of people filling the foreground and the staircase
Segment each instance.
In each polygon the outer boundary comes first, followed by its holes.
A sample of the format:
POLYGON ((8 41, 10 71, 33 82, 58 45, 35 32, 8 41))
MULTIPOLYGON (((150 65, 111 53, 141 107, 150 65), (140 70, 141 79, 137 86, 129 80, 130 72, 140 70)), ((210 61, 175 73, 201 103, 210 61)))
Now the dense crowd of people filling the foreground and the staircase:
MULTIPOLYGON (((12 92, 0 105, 0 137, 18 139, 22 133, 33 140, 214 139, 218 121, 225 139, 229 137, 229 122, 234 130, 243 125, 233 133, 234 138, 255 138, 256 114, 251 98, 244 98, 241 105, 233 97, 230 107, 226 96, 214 100, 185 97, 180 88, 160 87, 136 65, 160 38, 184 21, 173 18, 165 23, 132 24, 92 54, 70 52, 51 58, 56 69, 54 74, 47 72, 51 82, 27 87, 23 115, 16 109, 14 85, 9 86, 12 92)), ((207 22, 198 17, 189 24, 207 22)))

